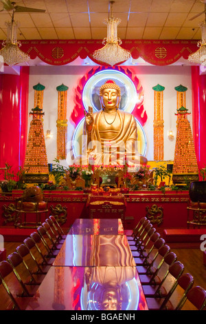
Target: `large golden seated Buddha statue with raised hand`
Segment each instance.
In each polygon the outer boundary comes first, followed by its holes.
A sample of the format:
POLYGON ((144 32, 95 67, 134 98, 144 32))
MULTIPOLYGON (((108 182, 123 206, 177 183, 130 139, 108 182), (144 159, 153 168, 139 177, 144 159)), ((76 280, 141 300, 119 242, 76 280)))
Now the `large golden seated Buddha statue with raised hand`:
MULTIPOLYGON (((121 90, 113 80, 100 87, 99 112, 89 107, 84 110, 83 134, 87 140, 82 145, 82 155, 76 164, 128 165, 146 164, 146 157, 137 151, 137 123, 135 117, 119 110, 121 90)), ((77 160, 78 159, 78 160, 77 160)))

